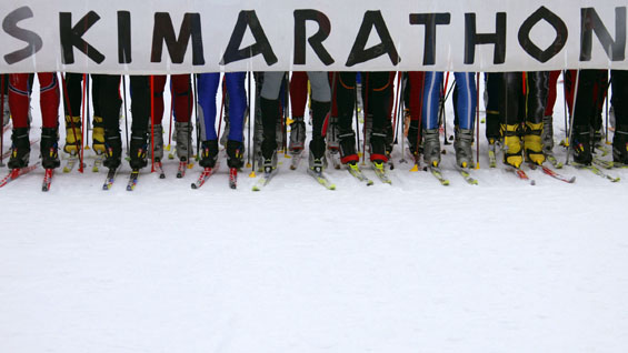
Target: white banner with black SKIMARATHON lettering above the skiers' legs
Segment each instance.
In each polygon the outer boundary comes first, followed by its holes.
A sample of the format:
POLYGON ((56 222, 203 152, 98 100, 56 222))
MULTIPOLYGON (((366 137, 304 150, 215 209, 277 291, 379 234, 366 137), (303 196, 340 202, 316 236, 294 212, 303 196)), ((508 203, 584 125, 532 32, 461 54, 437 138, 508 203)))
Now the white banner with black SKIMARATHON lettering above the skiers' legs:
POLYGON ((626 69, 626 0, 2 0, 0 72, 626 69))

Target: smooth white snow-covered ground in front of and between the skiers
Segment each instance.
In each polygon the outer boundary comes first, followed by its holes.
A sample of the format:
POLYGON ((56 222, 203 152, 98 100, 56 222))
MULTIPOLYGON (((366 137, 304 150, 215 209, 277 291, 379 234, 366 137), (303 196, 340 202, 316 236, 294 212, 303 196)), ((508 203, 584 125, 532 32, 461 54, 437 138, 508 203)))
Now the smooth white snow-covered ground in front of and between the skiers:
POLYGON ((0 352, 626 352, 628 170, 531 186, 480 140, 477 186, 451 147, 448 188, 399 152, 392 185, 330 170, 336 191, 283 157, 258 193, 225 163, 132 193, 128 167, 108 192, 88 170, 42 193, 38 169, 0 190, 0 352))

